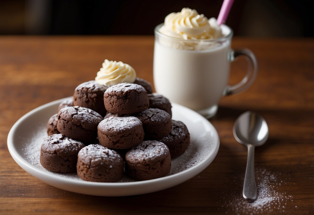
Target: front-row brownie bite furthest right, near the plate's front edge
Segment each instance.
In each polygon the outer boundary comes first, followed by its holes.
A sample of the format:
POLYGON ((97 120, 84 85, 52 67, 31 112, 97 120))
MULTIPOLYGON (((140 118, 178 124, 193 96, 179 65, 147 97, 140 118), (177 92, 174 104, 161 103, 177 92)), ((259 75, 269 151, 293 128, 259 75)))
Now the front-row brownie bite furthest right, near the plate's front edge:
POLYGON ((155 140, 143 141, 130 149, 125 160, 127 175, 140 181, 163 177, 171 169, 168 147, 155 140))

